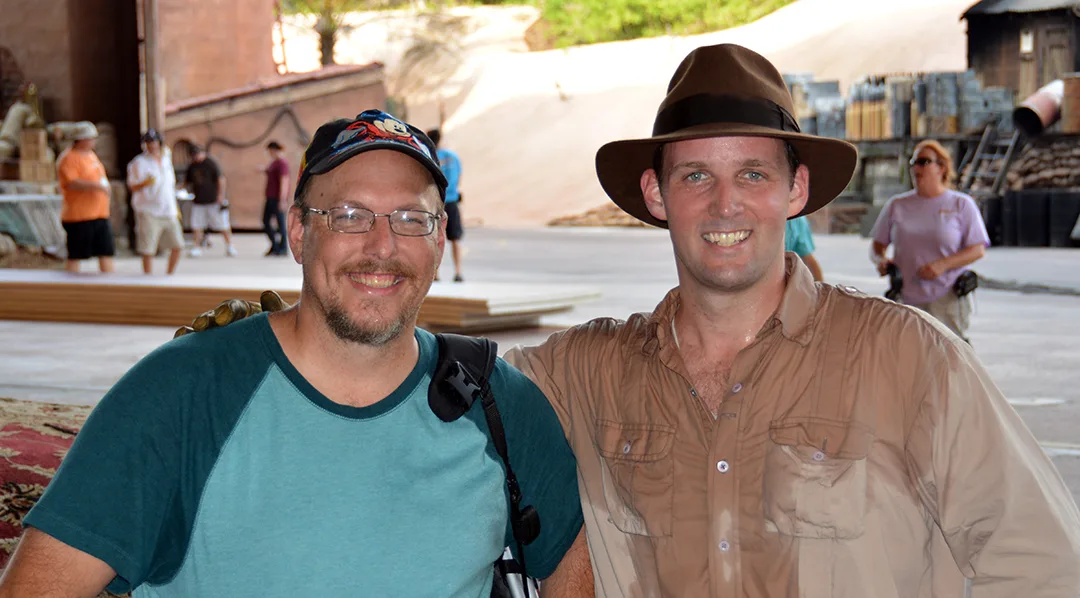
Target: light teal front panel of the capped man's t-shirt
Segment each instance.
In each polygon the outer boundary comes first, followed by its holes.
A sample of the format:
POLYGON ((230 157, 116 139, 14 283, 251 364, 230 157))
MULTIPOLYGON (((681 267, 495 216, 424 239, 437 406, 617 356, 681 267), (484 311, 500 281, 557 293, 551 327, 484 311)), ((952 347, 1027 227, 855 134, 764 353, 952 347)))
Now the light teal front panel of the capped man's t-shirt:
POLYGON ((429 382, 351 419, 272 367, 207 480, 183 567, 135 598, 486 598, 505 478, 472 420, 432 413, 429 382))

